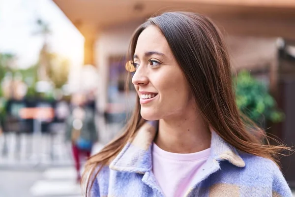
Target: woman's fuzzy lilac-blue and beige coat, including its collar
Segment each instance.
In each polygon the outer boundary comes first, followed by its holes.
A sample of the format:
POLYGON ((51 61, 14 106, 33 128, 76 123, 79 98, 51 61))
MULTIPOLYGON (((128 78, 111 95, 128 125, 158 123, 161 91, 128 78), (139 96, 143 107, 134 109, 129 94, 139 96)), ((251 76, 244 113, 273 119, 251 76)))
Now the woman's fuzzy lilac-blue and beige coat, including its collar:
MULTIPOLYGON (((95 177, 90 197, 164 197, 152 173, 152 129, 141 128, 95 177)), ((237 151, 212 131, 211 153, 185 197, 292 197, 274 162, 237 151)))

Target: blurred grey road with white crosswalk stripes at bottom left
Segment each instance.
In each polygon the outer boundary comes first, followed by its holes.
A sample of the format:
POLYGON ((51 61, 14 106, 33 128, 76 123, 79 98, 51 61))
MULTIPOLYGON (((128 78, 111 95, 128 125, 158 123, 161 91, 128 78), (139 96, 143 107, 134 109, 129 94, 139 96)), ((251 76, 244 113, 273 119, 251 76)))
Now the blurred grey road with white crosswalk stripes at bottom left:
POLYGON ((74 167, 0 168, 1 197, 81 197, 74 167), (4 178, 5 177, 5 178, 4 178))

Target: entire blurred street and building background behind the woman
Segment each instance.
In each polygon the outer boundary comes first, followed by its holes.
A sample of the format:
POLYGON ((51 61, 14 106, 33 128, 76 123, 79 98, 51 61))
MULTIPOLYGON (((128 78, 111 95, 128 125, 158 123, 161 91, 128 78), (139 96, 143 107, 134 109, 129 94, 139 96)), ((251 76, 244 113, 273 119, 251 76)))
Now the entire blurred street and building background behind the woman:
MULTIPOLYGON (((129 39, 171 10, 220 27, 239 109, 294 145, 294 0, 0 0, 0 197, 81 197, 83 156, 134 106, 131 84, 124 93, 129 39)), ((281 166, 295 189, 295 155, 281 166)))

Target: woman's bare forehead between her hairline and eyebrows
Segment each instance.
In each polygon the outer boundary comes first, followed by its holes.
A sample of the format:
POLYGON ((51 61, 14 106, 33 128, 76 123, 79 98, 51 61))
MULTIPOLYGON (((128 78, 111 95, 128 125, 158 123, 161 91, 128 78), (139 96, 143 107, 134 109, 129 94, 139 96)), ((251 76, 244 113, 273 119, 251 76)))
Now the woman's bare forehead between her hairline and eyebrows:
POLYGON ((147 51, 170 52, 166 38, 156 26, 149 26, 138 37, 135 54, 141 55, 147 51))

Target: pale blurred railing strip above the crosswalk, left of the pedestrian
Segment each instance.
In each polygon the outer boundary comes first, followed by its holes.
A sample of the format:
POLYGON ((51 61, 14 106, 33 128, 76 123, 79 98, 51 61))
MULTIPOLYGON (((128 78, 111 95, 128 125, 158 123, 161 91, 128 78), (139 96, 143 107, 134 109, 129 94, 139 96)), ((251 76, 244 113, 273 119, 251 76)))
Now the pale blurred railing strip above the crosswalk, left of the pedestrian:
POLYGON ((70 144, 62 133, 32 135, 8 133, 0 138, 0 165, 37 166, 71 164, 70 144))

